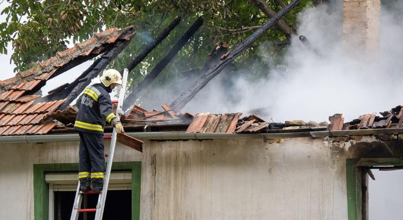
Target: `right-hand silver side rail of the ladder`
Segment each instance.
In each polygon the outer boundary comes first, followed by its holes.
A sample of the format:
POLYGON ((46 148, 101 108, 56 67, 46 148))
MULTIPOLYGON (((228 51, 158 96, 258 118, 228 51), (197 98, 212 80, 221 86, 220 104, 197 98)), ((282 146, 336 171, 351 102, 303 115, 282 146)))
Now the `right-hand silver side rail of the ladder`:
MULTIPOLYGON (((120 116, 123 114, 122 106, 123 106, 123 100, 125 98, 127 75, 128 75, 128 70, 127 70, 127 68, 125 68, 125 71, 123 72, 123 78, 122 78, 123 85, 120 90, 118 106, 116 108, 116 117, 119 121, 120 121, 120 116)), ((110 141, 108 163, 106 165, 106 173, 105 173, 105 178, 104 178, 104 187, 103 187, 102 193, 99 195, 99 198, 98 198, 97 211, 95 213, 95 220, 102 220, 102 217, 104 215, 106 193, 108 190, 109 176, 110 176, 110 172, 112 169, 113 154, 115 153, 116 138, 117 138, 116 129, 113 128, 112 139, 110 141)))

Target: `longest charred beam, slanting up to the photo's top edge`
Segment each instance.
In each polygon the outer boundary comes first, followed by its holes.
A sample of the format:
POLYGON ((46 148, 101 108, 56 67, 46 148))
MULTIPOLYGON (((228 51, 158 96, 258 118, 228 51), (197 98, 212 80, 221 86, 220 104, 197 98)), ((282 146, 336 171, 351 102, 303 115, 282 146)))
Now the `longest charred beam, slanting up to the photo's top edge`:
POLYGON ((281 9, 273 18, 264 23, 261 27, 259 27, 254 33, 252 33, 248 38, 245 39, 240 44, 235 45, 232 51, 228 54, 228 56, 222 59, 217 65, 210 68, 206 73, 200 76, 196 82, 191 85, 185 92, 183 92, 178 98, 176 98, 171 104, 170 108, 179 111, 186 104, 188 104, 191 99, 199 92, 202 88, 204 88, 216 75, 218 75, 221 70, 230 64, 237 56, 243 53, 248 47, 252 46, 252 44, 256 41, 257 38, 266 33, 270 28, 272 28, 282 17, 284 17, 288 12, 291 11, 301 0, 294 0, 292 3, 285 6, 281 9))

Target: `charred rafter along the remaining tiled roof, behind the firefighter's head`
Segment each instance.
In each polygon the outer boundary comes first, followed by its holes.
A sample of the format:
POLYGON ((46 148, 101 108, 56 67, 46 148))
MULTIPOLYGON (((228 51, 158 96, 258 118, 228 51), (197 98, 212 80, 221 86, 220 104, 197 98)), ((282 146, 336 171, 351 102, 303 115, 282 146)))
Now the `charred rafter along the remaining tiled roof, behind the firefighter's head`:
POLYGON ((84 90, 84 88, 91 83, 91 79, 95 78, 101 72, 101 70, 103 70, 127 46, 127 44, 131 42, 131 39, 132 38, 124 42, 118 42, 107 53, 102 55, 101 58, 99 58, 100 61, 98 64, 93 66, 88 72, 87 76, 83 78, 80 83, 78 83, 78 85, 68 94, 66 101, 60 105, 59 110, 66 109, 68 105, 84 90))

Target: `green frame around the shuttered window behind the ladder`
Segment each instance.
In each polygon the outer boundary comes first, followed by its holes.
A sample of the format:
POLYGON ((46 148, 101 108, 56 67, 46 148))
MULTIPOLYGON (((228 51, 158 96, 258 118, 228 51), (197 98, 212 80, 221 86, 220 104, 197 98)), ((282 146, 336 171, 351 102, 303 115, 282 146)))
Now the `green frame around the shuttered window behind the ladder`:
MULTIPOLYGON (((131 219, 140 219, 141 162, 113 162, 113 171, 131 170, 131 219)), ((48 172, 77 172, 78 163, 34 164, 34 219, 48 220, 49 184, 45 182, 48 172)))

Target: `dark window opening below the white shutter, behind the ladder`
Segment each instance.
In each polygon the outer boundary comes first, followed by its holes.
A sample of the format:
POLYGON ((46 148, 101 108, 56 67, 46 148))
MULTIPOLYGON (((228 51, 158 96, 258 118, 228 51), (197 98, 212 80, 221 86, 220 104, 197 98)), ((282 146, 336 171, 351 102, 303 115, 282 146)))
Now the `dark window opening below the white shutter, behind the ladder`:
MULTIPOLYGON (((54 192, 54 220, 70 220, 73 208, 73 191, 54 192)), ((85 195, 82 208, 95 208, 98 195, 85 195)), ((80 214, 79 220, 94 220, 95 213, 80 214)), ((130 220, 131 219, 131 190, 108 190, 106 195, 104 220, 130 220)))

